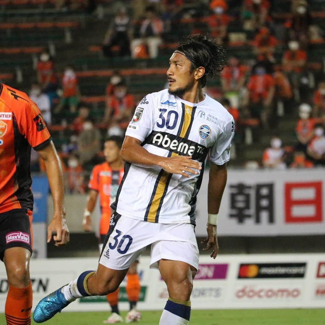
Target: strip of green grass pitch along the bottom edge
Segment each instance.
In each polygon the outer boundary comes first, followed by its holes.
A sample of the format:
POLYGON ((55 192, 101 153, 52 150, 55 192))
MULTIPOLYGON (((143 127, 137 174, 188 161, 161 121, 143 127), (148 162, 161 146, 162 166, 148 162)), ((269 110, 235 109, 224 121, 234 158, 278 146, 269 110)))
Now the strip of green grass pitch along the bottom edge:
MULTIPOLYGON (((126 312, 122 312, 124 317, 126 312)), ((61 313, 46 325, 103 324, 108 312, 61 313)), ((144 311, 139 325, 158 325, 161 311, 144 311)), ((0 324, 6 324, 0 314, 0 324)), ((32 324, 36 324, 32 321, 32 324)), ((325 325, 325 309, 192 310, 191 325, 325 325)))

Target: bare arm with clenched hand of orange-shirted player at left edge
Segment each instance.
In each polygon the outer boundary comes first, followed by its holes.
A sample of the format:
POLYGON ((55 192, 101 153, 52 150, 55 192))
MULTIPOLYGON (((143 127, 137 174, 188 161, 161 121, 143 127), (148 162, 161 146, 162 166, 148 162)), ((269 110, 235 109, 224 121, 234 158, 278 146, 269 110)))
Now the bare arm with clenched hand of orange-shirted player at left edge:
POLYGON ((51 241, 53 235, 56 246, 64 245, 69 242, 69 229, 65 221, 66 212, 64 207, 64 186, 61 162, 53 141, 44 148, 37 150, 37 152, 45 163, 54 205, 53 219, 47 227, 47 242, 51 241))

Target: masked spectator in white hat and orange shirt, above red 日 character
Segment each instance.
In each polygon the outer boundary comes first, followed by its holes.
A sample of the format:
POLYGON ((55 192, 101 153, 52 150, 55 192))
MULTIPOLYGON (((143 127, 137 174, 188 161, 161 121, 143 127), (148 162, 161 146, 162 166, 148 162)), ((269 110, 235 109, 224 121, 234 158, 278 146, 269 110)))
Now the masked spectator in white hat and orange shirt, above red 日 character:
POLYGON ((298 144, 295 147, 296 151, 306 153, 307 145, 314 136, 315 119, 310 117, 311 106, 303 103, 299 106, 299 120, 296 126, 296 136, 298 144))

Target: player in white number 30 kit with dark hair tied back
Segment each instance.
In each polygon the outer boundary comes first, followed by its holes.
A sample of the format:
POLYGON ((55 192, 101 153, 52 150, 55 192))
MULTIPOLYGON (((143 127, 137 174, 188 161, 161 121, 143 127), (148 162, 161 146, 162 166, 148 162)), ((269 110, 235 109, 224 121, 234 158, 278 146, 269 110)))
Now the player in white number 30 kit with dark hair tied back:
POLYGON ((172 54, 169 89, 147 95, 127 128, 125 172, 97 271, 85 271, 43 298, 34 312, 36 322, 53 317, 76 298, 115 291, 130 264, 151 244, 150 267, 158 267, 169 293, 160 325, 188 324, 199 266, 196 195, 209 153, 204 250, 212 249, 215 258, 218 211, 235 129, 227 110, 202 91, 207 77, 221 72, 224 58, 223 48, 202 35, 191 35, 172 54))

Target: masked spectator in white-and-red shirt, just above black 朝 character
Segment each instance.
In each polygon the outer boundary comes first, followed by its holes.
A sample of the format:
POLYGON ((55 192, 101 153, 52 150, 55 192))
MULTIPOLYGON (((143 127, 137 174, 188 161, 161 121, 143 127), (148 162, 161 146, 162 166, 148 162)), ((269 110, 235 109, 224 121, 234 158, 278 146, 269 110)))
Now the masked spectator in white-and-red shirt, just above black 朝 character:
POLYGON ((271 139, 271 147, 265 149, 263 154, 263 166, 270 169, 285 169, 283 161, 284 150, 281 148, 282 141, 278 137, 271 139))

